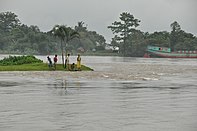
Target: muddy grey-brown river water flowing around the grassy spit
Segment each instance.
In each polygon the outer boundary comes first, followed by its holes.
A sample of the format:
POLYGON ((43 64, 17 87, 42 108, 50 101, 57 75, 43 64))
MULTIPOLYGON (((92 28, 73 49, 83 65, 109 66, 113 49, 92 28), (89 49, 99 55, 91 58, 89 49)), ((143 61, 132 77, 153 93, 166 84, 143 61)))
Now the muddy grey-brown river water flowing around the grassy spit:
POLYGON ((82 64, 94 71, 0 72, 0 131, 196 131, 196 59, 82 64))

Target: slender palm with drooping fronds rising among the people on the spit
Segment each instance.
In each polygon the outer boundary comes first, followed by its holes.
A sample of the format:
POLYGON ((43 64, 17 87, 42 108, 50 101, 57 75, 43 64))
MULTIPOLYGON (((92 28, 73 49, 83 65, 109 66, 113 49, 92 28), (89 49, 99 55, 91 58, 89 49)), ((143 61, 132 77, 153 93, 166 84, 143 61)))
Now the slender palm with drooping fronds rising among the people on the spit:
POLYGON ((50 31, 54 36, 60 38, 61 40, 61 53, 62 53, 62 65, 64 67, 64 44, 67 47, 67 44, 70 40, 73 38, 76 38, 79 36, 79 33, 74 31, 70 27, 66 27, 65 25, 55 25, 53 29, 50 31))

